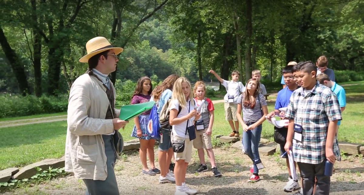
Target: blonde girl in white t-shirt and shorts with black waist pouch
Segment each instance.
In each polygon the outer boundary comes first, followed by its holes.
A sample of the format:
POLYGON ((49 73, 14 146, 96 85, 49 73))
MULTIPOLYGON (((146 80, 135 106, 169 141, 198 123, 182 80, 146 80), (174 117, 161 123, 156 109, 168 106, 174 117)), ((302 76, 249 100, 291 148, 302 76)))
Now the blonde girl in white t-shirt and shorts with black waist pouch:
POLYGON ((176 180, 175 195, 196 194, 197 190, 186 186, 186 171, 191 162, 193 139, 196 138, 194 121, 200 118, 195 110, 195 102, 191 83, 185 77, 178 78, 174 83, 172 100, 170 102, 169 123, 172 126, 171 141, 176 161, 174 176, 176 180), (181 112, 178 114, 179 108, 181 112), (177 147, 181 150, 176 150, 177 147))

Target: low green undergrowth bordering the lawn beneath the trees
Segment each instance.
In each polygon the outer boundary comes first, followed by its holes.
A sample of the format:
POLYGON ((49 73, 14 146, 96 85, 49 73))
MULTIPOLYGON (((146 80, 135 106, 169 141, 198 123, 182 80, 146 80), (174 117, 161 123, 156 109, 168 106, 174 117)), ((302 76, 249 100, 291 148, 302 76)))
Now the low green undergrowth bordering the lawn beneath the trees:
MULTIPOLYGON (((336 81, 340 84, 348 81, 363 81, 364 72, 355 72, 350 70, 338 70, 335 72, 336 81)), ((157 83, 157 76, 152 76, 153 87, 161 82, 157 83)), ((280 79, 270 83, 267 79, 263 79, 262 83, 266 84, 266 88, 269 93, 276 93, 281 89, 280 79)), ((131 101, 131 96, 135 90, 136 82, 131 80, 121 81, 116 80, 116 107, 122 105, 128 105, 131 101)), ((214 91, 213 89, 207 88, 206 97, 223 97, 225 95, 225 89, 220 91, 214 91)), ((35 97, 35 96, 0 96, 0 106, 3 108, 0 111, 0 118, 4 117, 19 117, 33 114, 44 114, 44 113, 58 113, 67 111, 68 96, 62 95, 59 97, 35 97)))

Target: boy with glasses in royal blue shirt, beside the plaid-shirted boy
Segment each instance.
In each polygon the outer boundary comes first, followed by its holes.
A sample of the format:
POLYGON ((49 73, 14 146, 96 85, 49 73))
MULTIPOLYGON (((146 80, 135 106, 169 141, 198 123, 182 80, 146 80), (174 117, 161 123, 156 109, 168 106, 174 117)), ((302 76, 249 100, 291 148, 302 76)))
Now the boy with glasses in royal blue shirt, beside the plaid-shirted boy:
MULTIPOLYGON (((293 69, 293 65, 287 65, 282 69, 282 77, 284 78, 284 83, 286 85, 285 88, 283 88, 282 90, 280 90, 278 92, 278 96, 277 96, 277 100, 276 100, 276 105, 274 106, 274 111, 270 112, 267 117, 271 118, 274 117, 275 115, 280 115, 281 119, 284 119, 284 112, 281 112, 280 108, 282 107, 287 107, 288 103, 289 103, 289 99, 293 93, 294 90, 296 90, 298 88, 296 82, 294 81, 294 76, 292 73, 292 69, 293 69)), ((279 131, 282 135, 284 135, 285 137, 287 136, 287 131, 288 128, 287 127, 282 127, 282 128, 278 128, 278 127, 274 127, 275 131, 279 131)), ((281 155, 285 153, 284 150, 284 145, 285 142, 279 143, 280 147, 281 147, 281 155)), ((288 173, 289 173, 289 179, 288 182, 286 184, 286 186, 284 186, 283 190, 285 192, 292 192, 294 190, 298 190, 300 188, 300 186, 298 185, 298 181, 294 181, 292 179, 292 175, 291 175, 291 171, 290 171, 290 166, 289 166, 289 161, 288 161, 288 157, 287 154, 285 154, 283 156, 283 158, 286 159, 286 163, 287 163, 287 169, 288 169, 288 173)), ((294 167, 296 168, 296 167, 294 167)))

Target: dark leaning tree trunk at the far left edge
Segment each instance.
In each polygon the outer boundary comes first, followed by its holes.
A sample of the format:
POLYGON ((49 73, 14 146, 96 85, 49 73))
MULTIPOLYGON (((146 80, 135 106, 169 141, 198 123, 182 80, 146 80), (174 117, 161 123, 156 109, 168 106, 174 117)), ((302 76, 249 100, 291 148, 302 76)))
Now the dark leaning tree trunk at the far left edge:
POLYGON ((24 71, 24 66, 21 64, 19 56, 15 53, 15 51, 9 45, 7 38, 5 37, 3 28, 0 26, 0 44, 3 49, 6 58, 9 60, 11 68, 15 74, 15 77, 18 81, 18 86, 20 93, 23 96, 30 94, 30 89, 27 81, 27 76, 24 71))

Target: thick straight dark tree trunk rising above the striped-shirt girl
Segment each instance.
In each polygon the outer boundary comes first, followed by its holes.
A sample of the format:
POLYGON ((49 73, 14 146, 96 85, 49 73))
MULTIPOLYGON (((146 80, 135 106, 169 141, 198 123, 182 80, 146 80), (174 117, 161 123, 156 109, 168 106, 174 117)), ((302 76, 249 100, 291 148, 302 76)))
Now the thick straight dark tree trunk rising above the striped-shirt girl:
POLYGON ((252 0, 246 0, 245 81, 252 76, 252 0))

